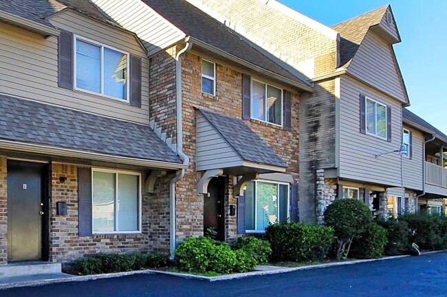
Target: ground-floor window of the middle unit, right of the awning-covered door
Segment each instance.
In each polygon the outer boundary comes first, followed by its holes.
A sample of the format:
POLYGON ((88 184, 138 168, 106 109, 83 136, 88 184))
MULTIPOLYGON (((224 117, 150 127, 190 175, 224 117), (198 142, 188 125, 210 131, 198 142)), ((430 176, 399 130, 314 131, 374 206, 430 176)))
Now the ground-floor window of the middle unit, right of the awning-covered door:
POLYGON ((248 182, 246 230, 263 232, 274 222, 285 222, 289 216, 289 185, 277 182, 248 182))

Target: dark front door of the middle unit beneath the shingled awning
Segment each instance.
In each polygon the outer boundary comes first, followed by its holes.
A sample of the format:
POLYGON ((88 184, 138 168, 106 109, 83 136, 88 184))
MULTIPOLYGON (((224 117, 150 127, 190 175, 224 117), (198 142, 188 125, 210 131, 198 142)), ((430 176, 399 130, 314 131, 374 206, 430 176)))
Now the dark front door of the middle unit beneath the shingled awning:
POLYGON ((204 195, 204 234, 219 241, 225 240, 224 198, 225 178, 212 178, 204 195))

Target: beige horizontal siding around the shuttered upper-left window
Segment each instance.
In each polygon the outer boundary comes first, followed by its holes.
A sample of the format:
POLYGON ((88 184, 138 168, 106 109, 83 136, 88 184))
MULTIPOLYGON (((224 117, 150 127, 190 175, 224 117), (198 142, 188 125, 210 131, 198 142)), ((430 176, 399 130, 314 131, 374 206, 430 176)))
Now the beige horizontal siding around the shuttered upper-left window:
POLYGON ((3 23, 0 23, 0 93, 149 124, 148 61, 135 36, 73 12, 57 14, 51 21, 57 27, 142 57, 142 108, 59 88, 57 38, 45 39, 3 23))

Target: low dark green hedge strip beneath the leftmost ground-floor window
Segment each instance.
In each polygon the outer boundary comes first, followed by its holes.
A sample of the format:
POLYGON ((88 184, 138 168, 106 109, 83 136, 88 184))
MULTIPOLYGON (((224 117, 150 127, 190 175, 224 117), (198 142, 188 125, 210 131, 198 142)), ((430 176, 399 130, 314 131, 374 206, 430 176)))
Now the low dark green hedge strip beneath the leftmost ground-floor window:
POLYGON ((79 275, 127 272, 157 268, 171 264, 164 254, 95 254, 74 262, 74 272, 79 275))

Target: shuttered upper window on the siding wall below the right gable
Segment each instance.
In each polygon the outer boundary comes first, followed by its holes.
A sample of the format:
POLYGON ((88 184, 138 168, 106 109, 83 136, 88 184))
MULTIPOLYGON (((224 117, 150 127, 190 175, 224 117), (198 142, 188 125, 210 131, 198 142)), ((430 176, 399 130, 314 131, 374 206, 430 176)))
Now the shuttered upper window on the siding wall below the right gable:
POLYGON ((375 102, 367 97, 365 108, 367 134, 386 139, 386 105, 375 102))

